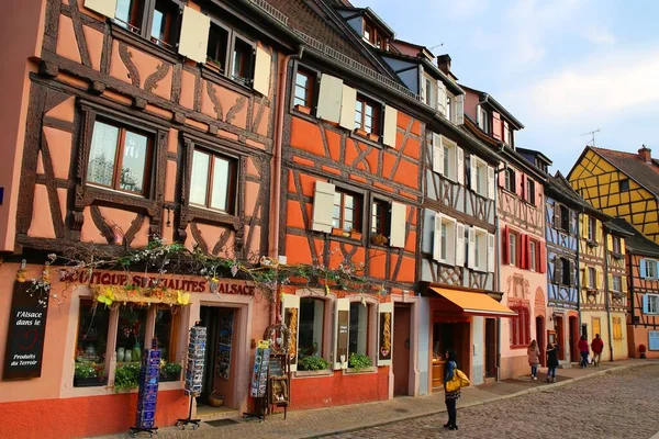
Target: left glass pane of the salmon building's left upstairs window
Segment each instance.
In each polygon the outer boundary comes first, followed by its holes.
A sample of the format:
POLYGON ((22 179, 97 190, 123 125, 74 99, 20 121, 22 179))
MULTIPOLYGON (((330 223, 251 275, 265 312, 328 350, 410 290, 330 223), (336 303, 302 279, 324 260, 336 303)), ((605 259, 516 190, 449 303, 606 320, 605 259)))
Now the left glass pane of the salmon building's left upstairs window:
POLYGON ((93 124, 87 181, 112 185, 119 128, 102 122, 93 124))

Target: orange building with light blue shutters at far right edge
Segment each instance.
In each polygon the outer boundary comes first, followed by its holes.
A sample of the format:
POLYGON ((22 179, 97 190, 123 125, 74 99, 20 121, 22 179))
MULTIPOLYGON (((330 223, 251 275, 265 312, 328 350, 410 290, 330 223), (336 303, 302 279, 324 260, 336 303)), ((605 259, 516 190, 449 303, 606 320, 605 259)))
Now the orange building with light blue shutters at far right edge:
POLYGON ((659 245, 624 219, 615 223, 634 234, 625 239, 628 353, 659 358, 659 245))

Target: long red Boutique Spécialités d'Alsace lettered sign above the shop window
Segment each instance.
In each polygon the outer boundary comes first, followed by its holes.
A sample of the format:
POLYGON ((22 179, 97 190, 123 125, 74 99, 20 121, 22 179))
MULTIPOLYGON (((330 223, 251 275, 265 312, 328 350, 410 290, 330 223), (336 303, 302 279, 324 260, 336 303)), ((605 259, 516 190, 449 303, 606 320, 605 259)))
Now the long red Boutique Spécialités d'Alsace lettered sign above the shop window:
POLYGON ((135 274, 116 271, 93 271, 88 270, 63 271, 59 278, 60 282, 89 284, 89 285, 112 285, 127 286, 136 285, 139 288, 161 286, 169 290, 181 290, 188 293, 210 293, 254 295, 256 285, 231 279, 219 279, 217 282, 209 282, 201 277, 185 275, 155 275, 155 274, 135 274))

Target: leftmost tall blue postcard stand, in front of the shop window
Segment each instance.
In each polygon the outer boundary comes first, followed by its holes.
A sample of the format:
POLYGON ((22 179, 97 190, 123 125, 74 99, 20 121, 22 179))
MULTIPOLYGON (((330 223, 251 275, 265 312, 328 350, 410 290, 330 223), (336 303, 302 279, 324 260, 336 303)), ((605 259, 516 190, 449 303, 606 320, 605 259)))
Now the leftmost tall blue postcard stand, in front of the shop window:
POLYGON ((137 393, 137 415, 135 426, 131 427, 131 436, 148 432, 149 437, 158 432, 156 424, 156 401, 158 397, 158 379, 160 376, 160 349, 154 337, 152 348, 145 349, 139 368, 139 391, 137 393))

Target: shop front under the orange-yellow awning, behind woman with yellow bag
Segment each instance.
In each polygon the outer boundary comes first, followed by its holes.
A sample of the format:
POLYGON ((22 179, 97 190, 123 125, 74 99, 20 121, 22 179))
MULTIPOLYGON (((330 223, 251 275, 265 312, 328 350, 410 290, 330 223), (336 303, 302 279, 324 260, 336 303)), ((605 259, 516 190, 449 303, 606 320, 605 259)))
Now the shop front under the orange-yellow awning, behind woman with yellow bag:
POLYGON ((496 325, 499 317, 516 313, 485 292, 428 288, 432 380, 429 391, 444 391, 445 353, 455 349, 458 367, 471 383, 496 378, 496 325))

